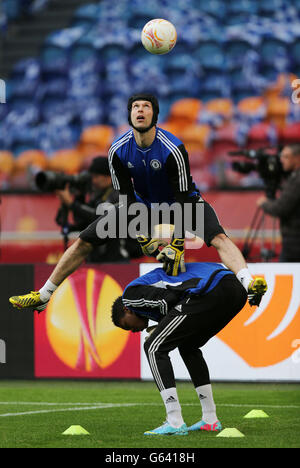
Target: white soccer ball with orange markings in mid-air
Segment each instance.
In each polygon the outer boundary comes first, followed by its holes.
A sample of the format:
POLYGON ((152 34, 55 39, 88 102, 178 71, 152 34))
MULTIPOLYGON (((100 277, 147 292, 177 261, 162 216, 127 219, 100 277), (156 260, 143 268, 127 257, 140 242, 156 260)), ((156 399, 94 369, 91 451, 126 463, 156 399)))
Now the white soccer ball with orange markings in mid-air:
POLYGON ((170 21, 153 19, 145 24, 141 40, 145 49, 151 54, 167 54, 176 44, 177 32, 170 21))

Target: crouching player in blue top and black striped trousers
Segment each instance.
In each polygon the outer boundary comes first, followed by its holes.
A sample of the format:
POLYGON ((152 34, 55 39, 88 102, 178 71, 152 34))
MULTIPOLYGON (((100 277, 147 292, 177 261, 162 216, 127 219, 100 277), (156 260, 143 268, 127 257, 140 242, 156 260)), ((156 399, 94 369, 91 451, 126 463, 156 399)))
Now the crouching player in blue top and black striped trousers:
POLYGON ((224 328, 247 302, 236 276, 217 263, 187 263, 186 272, 171 277, 162 268, 135 279, 112 306, 114 324, 140 332, 148 321, 158 325, 144 344, 150 369, 166 409, 166 422, 145 435, 187 435, 218 431, 209 370, 200 348, 224 328), (202 407, 192 426, 184 422, 169 353, 178 348, 202 407))

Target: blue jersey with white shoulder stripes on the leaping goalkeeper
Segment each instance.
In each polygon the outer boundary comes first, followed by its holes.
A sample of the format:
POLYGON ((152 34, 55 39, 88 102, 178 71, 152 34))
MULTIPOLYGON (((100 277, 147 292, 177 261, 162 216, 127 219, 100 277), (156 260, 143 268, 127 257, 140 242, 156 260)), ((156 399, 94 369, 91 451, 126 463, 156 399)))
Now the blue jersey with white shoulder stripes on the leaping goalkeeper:
POLYGON ((108 158, 114 189, 132 200, 150 206, 189 201, 200 195, 182 141, 166 130, 157 127, 147 148, 139 147, 133 130, 129 130, 113 142, 108 158))

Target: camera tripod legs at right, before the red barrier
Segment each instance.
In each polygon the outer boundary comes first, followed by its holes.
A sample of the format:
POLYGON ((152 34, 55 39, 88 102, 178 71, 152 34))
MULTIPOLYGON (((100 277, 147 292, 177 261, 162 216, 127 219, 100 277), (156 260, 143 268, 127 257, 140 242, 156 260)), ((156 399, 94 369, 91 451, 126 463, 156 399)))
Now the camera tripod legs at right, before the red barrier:
MULTIPOLYGON (((254 217, 252 219, 250 228, 247 232, 246 239, 244 242, 244 246, 242 248, 242 253, 245 257, 246 260, 251 260, 250 254, 251 250, 253 248, 253 244, 256 239, 259 238, 260 236, 260 257, 258 257, 256 260, 261 260, 264 262, 269 262, 272 259, 274 259, 277 254, 275 250, 275 244, 276 244, 276 219, 273 219, 273 227, 272 227, 272 242, 271 242, 271 248, 268 249, 265 245, 265 213, 263 212, 262 208, 258 207, 256 209, 256 212, 254 214, 254 217)), ((252 258, 252 260, 255 260, 252 258)))

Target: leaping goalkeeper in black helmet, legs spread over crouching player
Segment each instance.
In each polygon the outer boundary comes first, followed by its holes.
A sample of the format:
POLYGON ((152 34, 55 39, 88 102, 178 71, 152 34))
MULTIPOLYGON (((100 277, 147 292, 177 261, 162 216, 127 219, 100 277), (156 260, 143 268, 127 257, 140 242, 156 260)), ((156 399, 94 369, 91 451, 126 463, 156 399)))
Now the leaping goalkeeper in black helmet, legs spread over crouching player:
MULTIPOLYGON (((225 234, 214 209, 201 197, 192 180, 188 153, 183 143, 171 133, 157 127, 159 104, 155 96, 139 94, 129 98, 128 121, 132 130, 118 138, 109 150, 113 187, 127 197, 127 206, 139 201, 150 207, 153 203, 178 202, 181 205, 204 205, 204 241, 217 249, 223 264, 243 284, 251 305, 258 305, 267 289, 263 278, 253 279, 237 246, 225 234)), ((122 216, 122 206, 114 208, 116 222, 122 216)), ((105 215, 104 215, 105 216, 105 215)), ((93 245, 103 245, 107 239, 97 233, 98 220, 90 224, 66 250, 50 278, 39 291, 13 296, 13 306, 44 310, 51 295, 63 280, 73 273, 91 252, 93 245)), ((171 276, 185 271, 184 232, 173 237, 169 245, 151 238, 151 233, 138 237, 145 255, 163 262, 171 276), (164 246, 160 251, 159 247, 164 246)))

